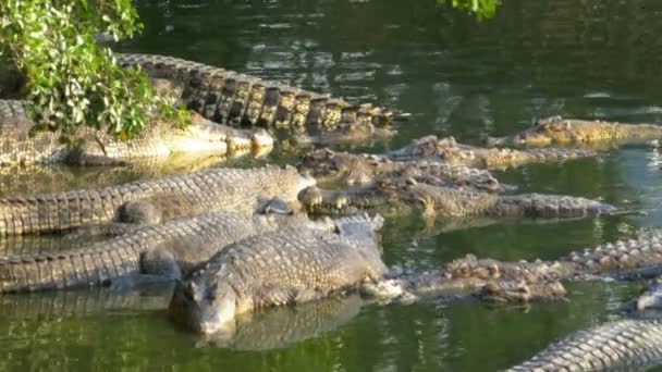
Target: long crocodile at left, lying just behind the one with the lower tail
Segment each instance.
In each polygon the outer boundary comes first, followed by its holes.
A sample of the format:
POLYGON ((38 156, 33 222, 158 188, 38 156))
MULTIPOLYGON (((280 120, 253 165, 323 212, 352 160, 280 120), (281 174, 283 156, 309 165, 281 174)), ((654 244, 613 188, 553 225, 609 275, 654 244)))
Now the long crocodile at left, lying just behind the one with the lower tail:
POLYGON ((159 223, 213 211, 253 214, 263 200, 296 201, 315 178, 293 166, 209 169, 192 174, 65 193, 0 198, 0 235, 86 225, 159 223))

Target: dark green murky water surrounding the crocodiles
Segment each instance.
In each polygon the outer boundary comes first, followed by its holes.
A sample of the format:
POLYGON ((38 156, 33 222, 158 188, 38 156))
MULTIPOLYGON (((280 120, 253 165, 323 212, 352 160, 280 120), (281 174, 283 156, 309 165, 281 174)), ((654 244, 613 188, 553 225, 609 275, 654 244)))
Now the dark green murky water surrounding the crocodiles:
MULTIPOLYGON (((478 144, 556 114, 662 119, 659 0, 503 0, 495 18, 478 24, 433 0, 171 0, 138 1, 138 8, 145 35, 122 44, 123 51, 194 59, 410 112, 392 148, 427 134, 478 144)), ((648 213, 450 231, 426 231, 407 215, 388 221, 385 259, 433 269, 466 253, 553 258, 632 236, 662 224, 661 165, 661 150, 647 145, 499 174, 523 190, 600 198, 648 213)), ((74 177, 68 187, 99 181, 90 177, 74 177)), ((638 290, 609 283, 567 288, 568 302, 515 309, 347 299, 324 311, 257 317, 263 322, 246 330, 244 343, 216 346, 173 326, 150 298, 143 299, 148 306, 111 301, 110 310, 90 305, 71 315, 58 303, 72 296, 47 303, 17 296, 0 301, 0 369, 492 371, 569 332, 622 317, 621 305, 638 290), (306 314, 318 321, 304 322, 306 314), (287 330, 290 339, 273 339, 287 330)))

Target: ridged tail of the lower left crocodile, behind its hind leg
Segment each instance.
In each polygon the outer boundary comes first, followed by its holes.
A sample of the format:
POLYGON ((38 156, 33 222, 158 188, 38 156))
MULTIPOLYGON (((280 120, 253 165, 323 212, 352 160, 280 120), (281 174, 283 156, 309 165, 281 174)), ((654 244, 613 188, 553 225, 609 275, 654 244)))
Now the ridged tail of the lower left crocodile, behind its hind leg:
POLYGON ((0 293, 26 293, 107 285, 139 270, 139 255, 127 249, 76 249, 0 259, 0 293))

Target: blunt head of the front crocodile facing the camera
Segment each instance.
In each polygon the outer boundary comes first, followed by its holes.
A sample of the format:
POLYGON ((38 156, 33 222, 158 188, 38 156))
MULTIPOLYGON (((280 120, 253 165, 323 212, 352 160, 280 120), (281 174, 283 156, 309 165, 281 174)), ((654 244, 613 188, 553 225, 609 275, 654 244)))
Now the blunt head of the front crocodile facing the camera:
POLYGON ((235 331, 236 295, 229 285, 211 286, 194 273, 177 281, 168 308, 173 321, 203 334, 232 334, 235 331))

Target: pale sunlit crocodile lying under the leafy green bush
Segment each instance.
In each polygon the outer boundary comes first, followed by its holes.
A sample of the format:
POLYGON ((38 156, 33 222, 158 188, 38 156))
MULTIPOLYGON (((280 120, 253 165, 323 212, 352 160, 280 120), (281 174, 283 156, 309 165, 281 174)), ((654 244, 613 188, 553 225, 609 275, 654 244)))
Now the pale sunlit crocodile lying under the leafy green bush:
POLYGON ((0 164, 122 163, 136 158, 166 158, 173 153, 225 153, 270 147, 265 131, 253 133, 212 123, 194 115, 193 123, 179 128, 171 123, 151 123, 136 138, 122 140, 106 131, 81 128, 83 140, 76 150, 62 142, 57 132, 39 131, 25 113, 25 102, 0 100, 0 164))

